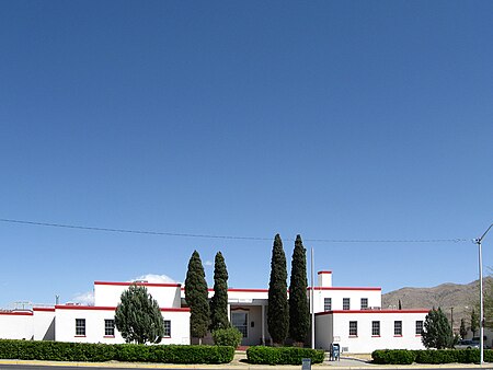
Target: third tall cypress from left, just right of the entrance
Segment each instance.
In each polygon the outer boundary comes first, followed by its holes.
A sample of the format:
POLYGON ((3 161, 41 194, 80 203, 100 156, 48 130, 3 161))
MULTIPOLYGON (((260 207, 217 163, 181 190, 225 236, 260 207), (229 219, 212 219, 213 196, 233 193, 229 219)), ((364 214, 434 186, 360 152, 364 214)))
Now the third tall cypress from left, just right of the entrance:
POLYGON ((268 333, 276 345, 283 345, 289 328, 289 308, 287 301, 286 255, 279 234, 274 238, 271 259, 271 280, 268 282, 268 333))

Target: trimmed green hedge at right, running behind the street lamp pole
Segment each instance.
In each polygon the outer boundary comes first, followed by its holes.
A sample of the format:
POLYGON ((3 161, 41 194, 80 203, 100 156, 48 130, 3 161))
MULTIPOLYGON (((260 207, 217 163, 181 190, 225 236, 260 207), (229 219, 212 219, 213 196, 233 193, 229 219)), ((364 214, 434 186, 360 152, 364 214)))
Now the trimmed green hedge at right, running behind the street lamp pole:
MULTIPOLYGON (((479 349, 379 349, 371 354, 374 363, 378 365, 410 365, 416 363, 478 363, 479 349)), ((484 350, 484 361, 493 362, 493 350, 484 350)))

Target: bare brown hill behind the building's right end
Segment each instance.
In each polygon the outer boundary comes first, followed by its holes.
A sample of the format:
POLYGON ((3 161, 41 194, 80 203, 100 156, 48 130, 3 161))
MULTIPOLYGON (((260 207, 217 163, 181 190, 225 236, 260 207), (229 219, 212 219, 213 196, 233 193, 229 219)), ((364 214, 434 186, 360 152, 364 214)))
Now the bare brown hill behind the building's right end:
MULTIPOLYGON (((484 278, 484 285, 492 282, 492 277, 484 278)), ((399 300, 404 310, 439 307, 449 321, 450 308, 454 308, 454 328, 459 329, 461 319, 469 325, 471 310, 479 301, 479 280, 465 285, 446 282, 434 288, 402 288, 382 294, 381 307, 398 308, 399 300)))

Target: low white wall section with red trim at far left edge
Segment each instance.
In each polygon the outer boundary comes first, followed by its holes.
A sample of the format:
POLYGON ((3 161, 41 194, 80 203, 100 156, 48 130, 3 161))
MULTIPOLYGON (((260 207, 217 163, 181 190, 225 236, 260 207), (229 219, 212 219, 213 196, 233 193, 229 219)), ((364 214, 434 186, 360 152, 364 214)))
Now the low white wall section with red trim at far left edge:
POLYGON ((0 338, 31 339, 33 337, 33 313, 0 311, 0 338))

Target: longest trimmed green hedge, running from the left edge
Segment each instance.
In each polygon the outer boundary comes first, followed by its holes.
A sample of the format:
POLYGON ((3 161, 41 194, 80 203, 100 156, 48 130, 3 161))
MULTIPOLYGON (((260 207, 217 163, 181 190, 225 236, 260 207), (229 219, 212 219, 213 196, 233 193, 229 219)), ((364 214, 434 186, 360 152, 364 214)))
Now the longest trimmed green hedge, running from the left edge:
POLYGON ((0 339, 0 358, 18 360, 229 363, 233 356, 234 348, 229 346, 106 345, 0 339))

